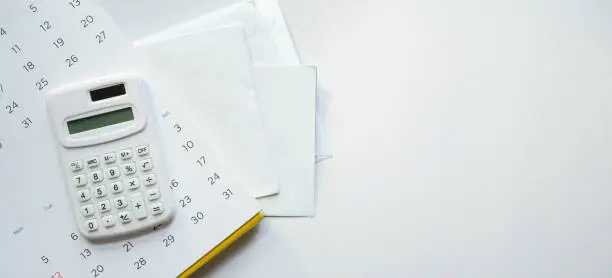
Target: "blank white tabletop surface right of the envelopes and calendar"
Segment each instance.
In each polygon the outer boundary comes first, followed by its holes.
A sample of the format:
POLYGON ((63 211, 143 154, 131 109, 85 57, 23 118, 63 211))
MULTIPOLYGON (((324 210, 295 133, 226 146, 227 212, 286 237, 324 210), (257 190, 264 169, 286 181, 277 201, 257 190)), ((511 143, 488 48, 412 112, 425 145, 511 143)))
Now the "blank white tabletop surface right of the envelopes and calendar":
POLYGON ((611 2, 280 3, 335 158, 201 276, 612 276, 611 2))

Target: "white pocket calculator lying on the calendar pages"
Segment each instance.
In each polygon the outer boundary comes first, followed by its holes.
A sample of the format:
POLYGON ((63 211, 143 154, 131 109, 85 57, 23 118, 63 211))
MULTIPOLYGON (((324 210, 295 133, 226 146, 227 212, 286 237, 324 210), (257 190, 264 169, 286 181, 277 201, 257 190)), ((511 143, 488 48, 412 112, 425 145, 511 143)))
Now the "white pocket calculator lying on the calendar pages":
POLYGON ((153 230, 172 219, 167 175, 144 81, 125 75, 47 97, 79 231, 90 240, 153 230))

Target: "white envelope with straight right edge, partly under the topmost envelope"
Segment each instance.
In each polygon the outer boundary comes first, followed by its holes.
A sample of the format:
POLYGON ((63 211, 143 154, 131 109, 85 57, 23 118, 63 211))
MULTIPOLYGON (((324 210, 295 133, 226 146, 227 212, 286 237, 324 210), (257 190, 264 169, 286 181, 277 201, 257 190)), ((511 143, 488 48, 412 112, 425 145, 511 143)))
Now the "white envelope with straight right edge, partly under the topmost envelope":
POLYGON ((266 216, 313 216, 317 69, 254 67, 256 100, 281 193, 259 199, 266 216))

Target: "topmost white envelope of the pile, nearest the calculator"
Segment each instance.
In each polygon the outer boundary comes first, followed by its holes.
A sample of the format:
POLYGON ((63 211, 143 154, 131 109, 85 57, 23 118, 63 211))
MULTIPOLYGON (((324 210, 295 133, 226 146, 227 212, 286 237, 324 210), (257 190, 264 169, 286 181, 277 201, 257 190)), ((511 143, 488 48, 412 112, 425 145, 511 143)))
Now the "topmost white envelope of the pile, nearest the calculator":
POLYGON ((136 44, 148 57, 153 79, 169 79, 201 132, 220 148, 255 197, 278 193, 255 104, 251 60, 241 26, 136 44))

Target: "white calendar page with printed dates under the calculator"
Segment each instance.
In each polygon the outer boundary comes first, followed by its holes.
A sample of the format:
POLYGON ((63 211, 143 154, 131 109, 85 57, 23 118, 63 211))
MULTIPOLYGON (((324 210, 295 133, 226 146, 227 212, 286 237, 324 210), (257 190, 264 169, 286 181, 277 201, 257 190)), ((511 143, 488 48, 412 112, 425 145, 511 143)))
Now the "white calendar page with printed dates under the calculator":
POLYGON ((0 272, 7 277, 177 276, 259 212, 197 127, 174 109, 180 104, 152 88, 174 220, 104 244, 78 234, 44 95, 84 78, 137 71, 129 45, 93 1, 0 4, 0 272))

